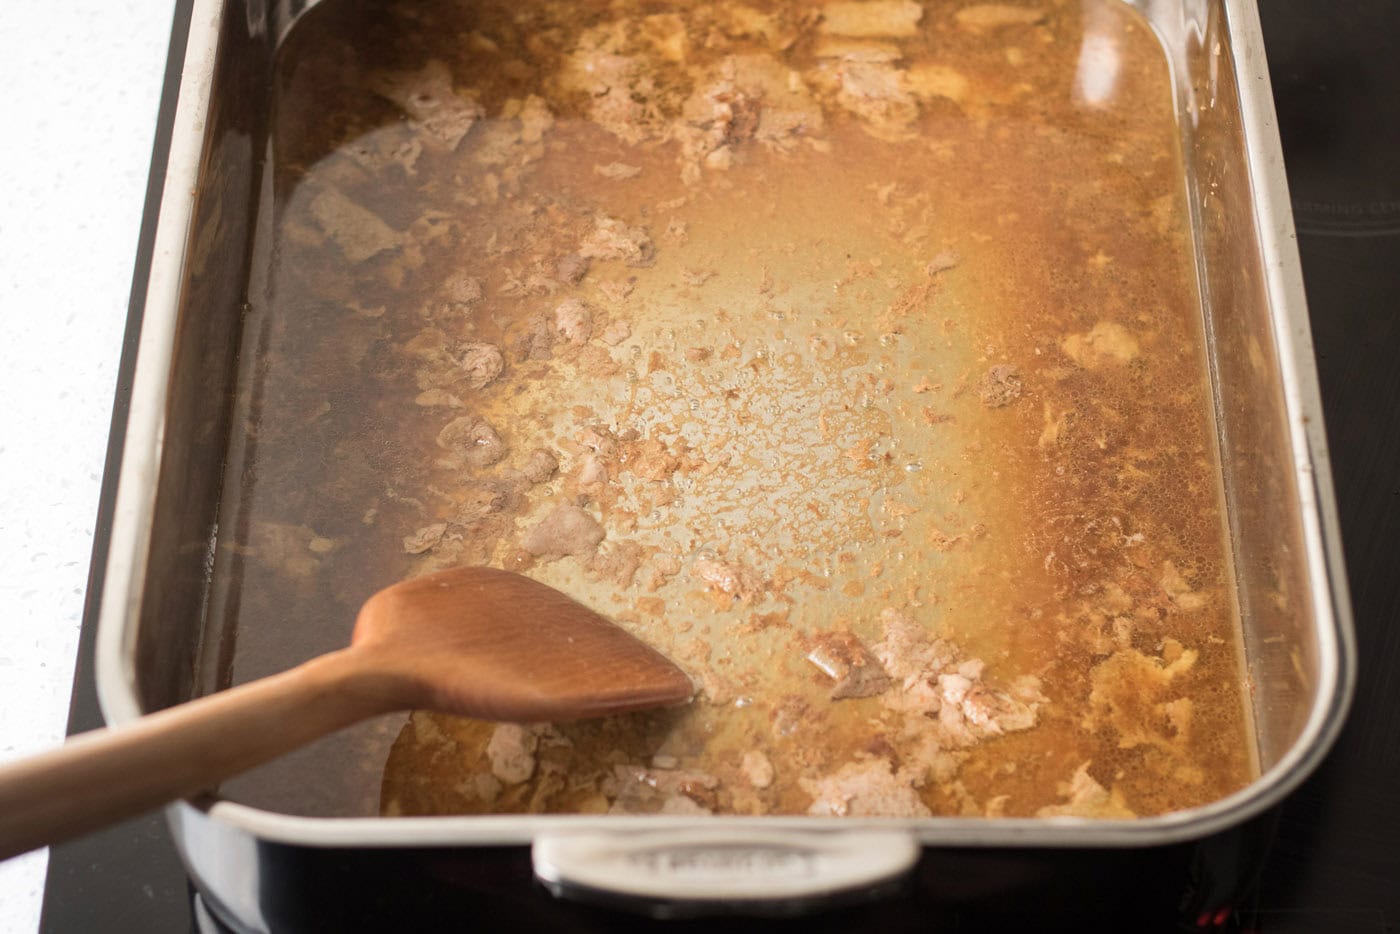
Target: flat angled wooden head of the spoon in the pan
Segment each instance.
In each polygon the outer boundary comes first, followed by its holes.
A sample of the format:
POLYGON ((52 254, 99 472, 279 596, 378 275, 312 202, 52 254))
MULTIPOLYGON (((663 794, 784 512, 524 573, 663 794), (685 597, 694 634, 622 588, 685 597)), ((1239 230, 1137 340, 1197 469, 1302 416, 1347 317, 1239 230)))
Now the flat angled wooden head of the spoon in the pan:
POLYGON ((458 567, 379 591, 351 647, 412 685, 416 706, 508 721, 582 720, 694 695, 665 655, 528 577, 458 567))

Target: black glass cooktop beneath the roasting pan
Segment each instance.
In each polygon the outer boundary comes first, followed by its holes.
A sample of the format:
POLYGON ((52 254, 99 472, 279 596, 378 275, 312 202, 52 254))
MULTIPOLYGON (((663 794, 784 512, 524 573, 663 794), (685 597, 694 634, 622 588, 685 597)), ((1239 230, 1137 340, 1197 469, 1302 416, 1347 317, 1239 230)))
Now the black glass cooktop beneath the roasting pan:
MULTIPOLYGON (((1282 808, 1257 895, 1229 917, 1200 919, 1200 927, 1382 934, 1400 926, 1400 4, 1259 3, 1322 377, 1361 674, 1336 749, 1282 808)), ((175 18, 171 62, 183 56, 189 6, 182 1, 175 18)), ((168 71, 158 154, 167 146, 176 81, 178 70, 168 71)), ((153 165, 157 182, 161 158, 153 165)), ((150 197, 157 195, 153 185, 150 197)), ((153 216, 148 210, 147 223, 153 216)), ((150 234, 143 231, 137 283, 146 279, 150 234)), ((143 297, 139 284, 132 307, 140 308, 143 297)), ((132 330, 115 437, 125 426, 132 330)), ((109 508, 105 490, 97 559, 104 556, 109 508)), ((74 732, 101 725, 88 609, 69 723, 74 732)), ((216 930, 207 919, 196 923, 197 913, 160 816, 52 853, 46 933, 216 930)), ((892 920, 927 926, 927 919, 882 914, 886 930, 892 920)), ((1159 930, 1165 920, 1144 917, 1140 930, 1159 930)), ((941 928, 991 930, 973 919, 941 928)), ((1112 930, 1126 928, 1120 921, 1112 930)))

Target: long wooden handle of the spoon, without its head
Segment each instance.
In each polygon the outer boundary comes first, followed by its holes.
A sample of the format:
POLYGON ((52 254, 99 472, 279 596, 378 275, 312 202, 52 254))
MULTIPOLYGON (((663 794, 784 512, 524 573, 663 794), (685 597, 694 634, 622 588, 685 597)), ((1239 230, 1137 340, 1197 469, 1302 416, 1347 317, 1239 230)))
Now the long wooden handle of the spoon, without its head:
POLYGON ((312 739, 395 710, 393 683, 342 650, 291 671, 94 730, 0 766, 0 860, 81 836, 312 739))

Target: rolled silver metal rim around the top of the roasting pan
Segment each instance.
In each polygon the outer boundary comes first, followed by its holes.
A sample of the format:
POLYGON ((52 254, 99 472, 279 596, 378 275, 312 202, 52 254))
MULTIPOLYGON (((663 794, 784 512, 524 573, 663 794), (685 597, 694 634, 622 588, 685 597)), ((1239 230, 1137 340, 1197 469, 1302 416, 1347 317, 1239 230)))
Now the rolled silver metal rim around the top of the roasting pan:
MULTIPOLYGON (((311 4, 301 4, 308 8, 311 4)), ((1204 8, 1207 4, 1193 4, 1204 8)), ((155 479, 161 462, 162 413, 168 396, 181 273, 189 235, 204 116, 218 46, 223 0, 196 0, 192 35, 171 143, 146 321, 132 389, 132 420, 123 442, 122 475, 105 569, 99 615, 97 681, 104 714, 113 724, 140 713, 134 662, 146 556, 150 549, 155 479)), ((1327 459, 1316 364, 1312 356, 1302 273, 1284 176, 1281 143, 1264 62, 1257 8, 1249 0, 1222 0, 1240 97, 1242 133, 1253 185, 1254 223, 1263 251, 1273 340, 1282 374, 1291 463, 1303 527, 1305 566, 1317 639, 1317 688, 1306 723, 1289 751, 1240 791, 1193 808, 1134 821, 1078 818, 924 818, 914 821, 766 816, 655 818, 651 830, 725 828, 813 830, 903 828, 920 842, 944 846, 1137 847, 1198 839, 1225 830, 1274 805, 1322 760, 1340 732, 1351 700, 1355 646, 1345 590, 1337 510, 1327 459)), ((287 20, 290 24, 290 18, 287 20)), ((283 35, 286 28, 277 31, 283 35)), ((498 815, 472 818, 302 818, 214 801, 209 816, 255 837, 312 847, 503 846, 540 835, 606 832, 616 818, 498 815)), ((629 825, 636 826, 636 819, 629 825)))

